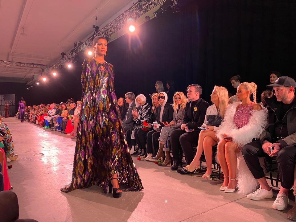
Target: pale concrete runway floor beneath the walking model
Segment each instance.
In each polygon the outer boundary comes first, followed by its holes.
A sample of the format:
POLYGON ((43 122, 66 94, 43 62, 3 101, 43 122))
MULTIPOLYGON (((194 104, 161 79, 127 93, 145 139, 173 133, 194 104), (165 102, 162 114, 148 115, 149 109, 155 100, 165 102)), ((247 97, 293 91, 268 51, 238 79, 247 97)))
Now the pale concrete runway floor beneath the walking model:
MULTIPOLYGON (((14 117, 3 119, 13 136, 16 161, 8 163, 10 183, 19 199, 19 218, 40 222, 71 221, 289 221, 272 209, 273 199, 253 201, 219 191, 222 181, 200 174, 180 175, 170 167, 133 157, 144 190, 114 199, 101 188, 61 193, 71 181, 75 140, 14 117)), ((294 197, 291 197, 293 199, 294 197)))

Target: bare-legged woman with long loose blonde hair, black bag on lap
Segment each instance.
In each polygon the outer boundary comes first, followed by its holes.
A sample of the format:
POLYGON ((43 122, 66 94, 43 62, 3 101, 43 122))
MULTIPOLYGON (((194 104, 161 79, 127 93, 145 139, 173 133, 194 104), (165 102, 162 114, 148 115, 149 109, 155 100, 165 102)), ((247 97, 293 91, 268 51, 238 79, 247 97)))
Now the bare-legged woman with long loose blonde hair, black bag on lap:
POLYGON ((207 109, 206 116, 204 118, 205 130, 201 130, 199 133, 197 151, 193 161, 184 167, 189 172, 196 171, 200 168, 199 159, 204 151, 204 156, 207 163, 207 171, 202 176, 203 179, 212 180, 212 147, 218 142, 216 132, 219 130, 222 118, 225 115, 226 108, 228 106, 228 91, 223 86, 214 86, 214 90, 211 94, 211 101, 214 103, 207 109))

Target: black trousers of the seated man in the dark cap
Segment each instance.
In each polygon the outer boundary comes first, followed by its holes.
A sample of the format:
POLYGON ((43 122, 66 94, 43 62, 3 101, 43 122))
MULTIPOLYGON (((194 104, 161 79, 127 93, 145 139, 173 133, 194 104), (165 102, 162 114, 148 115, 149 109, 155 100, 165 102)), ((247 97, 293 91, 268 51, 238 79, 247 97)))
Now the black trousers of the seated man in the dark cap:
MULTIPOLYGON (((258 158, 265 157, 267 154, 263 151, 259 141, 246 144, 242 149, 242 155, 255 179, 265 177, 258 158)), ((290 189, 294 184, 295 160, 296 144, 286 146, 278 152, 278 172, 280 175, 281 186, 283 188, 290 189)))

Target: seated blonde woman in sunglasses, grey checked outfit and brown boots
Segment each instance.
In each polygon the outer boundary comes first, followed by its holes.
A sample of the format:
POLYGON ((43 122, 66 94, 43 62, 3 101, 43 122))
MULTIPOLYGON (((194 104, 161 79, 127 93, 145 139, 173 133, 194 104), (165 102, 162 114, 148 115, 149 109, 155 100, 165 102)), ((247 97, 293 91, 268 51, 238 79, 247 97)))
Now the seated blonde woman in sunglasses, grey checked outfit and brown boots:
MULTIPOLYGON (((167 142, 168 137, 171 135, 171 132, 176 129, 180 129, 182 122, 183 122, 183 117, 185 113, 185 107, 186 103, 188 102, 187 98, 185 97, 183 92, 176 92, 175 95, 173 96, 173 109, 174 109, 174 115, 173 115, 173 120, 168 123, 164 123, 164 127, 161 128, 160 136, 158 138, 159 141, 159 148, 158 148, 158 153, 156 154, 156 158, 158 156, 162 156, 163 150, 165 151, 165 160, 163 163, 159 162, 159 166, 167 166, 169 163, 171 163, 171 152, 169 147, 165 147, 165 143, 167 142)), ((152 154, 148 154, 147 158, 145 160, 150 160, 152 158, 152 154)))

